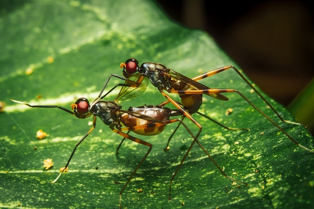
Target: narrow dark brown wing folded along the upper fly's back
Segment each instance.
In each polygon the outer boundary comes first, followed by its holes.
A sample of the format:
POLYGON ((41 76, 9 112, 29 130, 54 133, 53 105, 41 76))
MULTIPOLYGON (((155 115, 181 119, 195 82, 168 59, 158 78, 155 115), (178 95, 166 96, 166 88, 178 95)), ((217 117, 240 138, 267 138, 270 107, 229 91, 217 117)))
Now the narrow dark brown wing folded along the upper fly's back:
MULTIPOLYGON (((196 90, 202 90, 202 89, 210 89, 209 87, 197 82, 197 81, 194 81, 193 79, 191 78, 188 78, 176 71, 173 71, 173 70, 170 70, 169 74, 174 77, 175 79, 179 80, 179 81, 182 81, 183 83, 191 86, 193 89, 196 89, 196 90)), ((215 99, 219 99, 219 100, 229 100, 228 97, 220 94, 220 93, 216 93, 216 94, 207 94, 211 97, 214 97, 215 99)))

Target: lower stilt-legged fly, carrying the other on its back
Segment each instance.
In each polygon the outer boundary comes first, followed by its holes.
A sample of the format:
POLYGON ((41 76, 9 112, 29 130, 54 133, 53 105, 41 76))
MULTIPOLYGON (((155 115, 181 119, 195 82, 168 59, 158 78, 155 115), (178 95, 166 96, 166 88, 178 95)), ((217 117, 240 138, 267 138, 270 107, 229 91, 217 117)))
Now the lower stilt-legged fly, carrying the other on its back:
MULTIPOLYGON (((195 136, 190 129, 187 127, 187 125, 180 119, 180 118, 171 118, 172 116, 178 116, 178 110, 171 110, 170 108, 164 107, 168 102, 164 102, 161 105, 144 105, 140 107, 130 107, 128 110, 122 110, 121 106, 117 104, 122 99, 128 99, 129 97, 134 97, 138 94, 140 94, 142 91, 145 90, 145 82, 141 82, 138 89, 132 89, 132 88, 122 88, 118 96, 114 99, 114 101, 103 101, 103 99, 108 93, 110 93, 116 86, 123 86, 123 85, 116 85, 111 90, 109 90, 105 95, 101 96, 109 79, 107 80, 106 84, 104 85, 103 89, 101 90, 100 94, 96 99, 94 99, 92 102, 89 102, 86 98, 79 98, 74 104, 71 104, 72 110, 69 110, 67 108, 57 106, 57 105, 30 105, 25 102, 17 101, 14 99, 11 99, 13 102, 20 103, 27 105, 29 107, 39 107, 39 108, 59 108, 63 111, 66 111, 77 118, 87 118, 91 115, 93 115, 93 126, 90 128, 90 130, 75 144, 75 147, 70 155, 70 158, 68 159, 65 167, 61 170, 60 174, 57 176, 55 180, 52 181, 52 183, 56 182, 61 174, 67 169, 69 166, 69 163, 75 153, 75 150, 77 147, 81 144, 81 142, 94 130, 96 126, 96 118, 97 116, 102 120, 103 123, 108 125, 110 129, 123 136, 123 140, 125 138, 134 141, 136 143, 145 145, 148 147, 147 152, 143 156, 143 158, 140 160, 140 162, 137 164, 135 169, 133 170, 132 174, 124 184, 123 188, 121 189, 119 193, 119 205, 121 208, 122 203, 122 193, 138 168, 141 166, 147 155, 149 154, 152 145, 144 140, 141 140, 137 137, 129 135, 129 132, 132 131, 134 133, 137 133, 139 135, 156 135, 163 132, 163 130, 166 128, 167 124, 179 122, 182 124, 186 130, 189 132, 189 134, 192 136, 193 141, 198 143, 200 147, 203 149, 203 151, 208 155, 208 157, 213 161, 213 163, 217 166, 217 168, 221 171, 221 173, 233 180, 237 181, 243 184, 248 185, 245 182, 239 181, 235 178, 232 178, 228 176, 223 169, 215 162, 215 160, 211 157, 211 155, 206 151, 206 149, 202 146, 202 144, 198 141, 197 136, 195 136), (123 131, 128 131, 127 133, 123 131)), ((126 82, 127 83, 127 82, 126 82)), ((147 82, 146 82, 147 85, 147 82)), ((122 140, 122 141, 123 141, 122 140)), ((122 142, 121 142, 122 143, 122 142)), ((121 145, 120 143, 120 145, 121 145)), ((120 147, 118 146, 118 148, 120 147)), ((118 150, 117 148, 117 150, 118 150)), ((192 146, 190 147, 190 149, 192 146)), ((189 150, 190 151, 190 150, 189 150)), ((178 166, 178 169, 176 173, 179 171, 182 163, 184 162, 185 158, 187 157, 189 152, 185 154, 181 164, 178 166)), ((175 177, 176 173, 173 175, 173 178, 175 177)), ((173 180, 172 178, 172 180, 173 180)), ((172 183, 171 180, 171 183, 172 183)), ((171 199, 171 187, 170 187, 170 194, 169 199, 171 199)))

